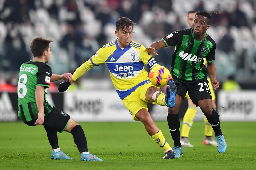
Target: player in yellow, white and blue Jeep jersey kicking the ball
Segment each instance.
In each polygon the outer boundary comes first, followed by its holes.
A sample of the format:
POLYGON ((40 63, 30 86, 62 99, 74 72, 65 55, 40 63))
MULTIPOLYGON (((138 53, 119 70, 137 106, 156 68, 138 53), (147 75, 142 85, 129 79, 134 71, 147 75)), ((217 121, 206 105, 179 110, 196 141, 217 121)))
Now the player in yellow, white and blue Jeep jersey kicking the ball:
POLYGON ((166 106, 165 100, 169 103, 170 92, 166 93, 169 97, 165 99, 166 95, 161 92, 160 88, 150 83, 148 73, 143 66, 147 64, 152 69, 158 64, 143 45, 131 41, 132 31, 133 22, 126 17, 119 18, 116 21, 115 30, 117 39, 104 45, 91 59, 76 69, 71 82, 61 83, 59 91, 66 91, 71 83, 92 67, 107 64, 116 92, 132 118, 141 121, 148 134, 164 150, 163 159, 174 158, 172 148, 153 122, 146 105, 146 103, 153 103, 166 106))

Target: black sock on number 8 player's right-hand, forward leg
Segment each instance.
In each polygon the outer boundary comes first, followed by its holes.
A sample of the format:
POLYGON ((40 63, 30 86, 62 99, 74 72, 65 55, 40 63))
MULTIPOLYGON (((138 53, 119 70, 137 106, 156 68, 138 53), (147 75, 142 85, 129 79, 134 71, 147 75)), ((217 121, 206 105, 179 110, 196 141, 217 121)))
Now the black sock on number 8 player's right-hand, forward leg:
POLYGON ((82 127, 80 125, 76 125, 70 133, 73 135, 74 142, 79 152, 88 152, 87 141, 82 127))

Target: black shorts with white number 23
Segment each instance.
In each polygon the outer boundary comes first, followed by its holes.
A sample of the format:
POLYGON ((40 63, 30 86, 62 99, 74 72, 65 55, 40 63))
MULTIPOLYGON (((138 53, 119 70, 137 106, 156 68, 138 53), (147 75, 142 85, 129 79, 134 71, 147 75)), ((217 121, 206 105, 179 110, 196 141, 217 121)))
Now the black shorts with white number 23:
POLYGON ((188 95, 192 102, 198 106, 198 101, 203 99, 212 99, 211 91, 208 86, 207 79, 199 79, 196 81, 182 81, 173 76, 173 81, 177 87, 176 94, 184 99, 188 91, 188 95))

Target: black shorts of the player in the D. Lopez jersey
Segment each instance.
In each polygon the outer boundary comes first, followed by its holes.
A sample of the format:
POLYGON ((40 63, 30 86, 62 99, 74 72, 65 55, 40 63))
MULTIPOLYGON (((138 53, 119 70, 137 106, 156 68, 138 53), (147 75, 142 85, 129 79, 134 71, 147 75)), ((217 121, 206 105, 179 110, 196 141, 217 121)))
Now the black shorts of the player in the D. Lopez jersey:
MULTIPOLYGON (((44 116, 44 123, 42 124, 46 131, 63 132, 68 126, 70 116, 62 110, 54 107, 49 115, 44 116)), ((29 126, 36 126, 36 120, 24 122, 29 126)))

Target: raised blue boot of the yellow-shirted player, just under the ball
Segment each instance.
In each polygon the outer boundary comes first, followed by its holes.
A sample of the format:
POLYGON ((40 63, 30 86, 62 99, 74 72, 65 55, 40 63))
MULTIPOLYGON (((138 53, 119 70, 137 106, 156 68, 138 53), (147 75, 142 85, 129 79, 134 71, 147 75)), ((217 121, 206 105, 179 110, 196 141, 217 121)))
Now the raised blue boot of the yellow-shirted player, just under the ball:
POLYGON ((175 106, 175 95, 177 87, 172 79, 167 82, 166 92, 165 92, 165 102, 168 107, 172 108, 175 106))

